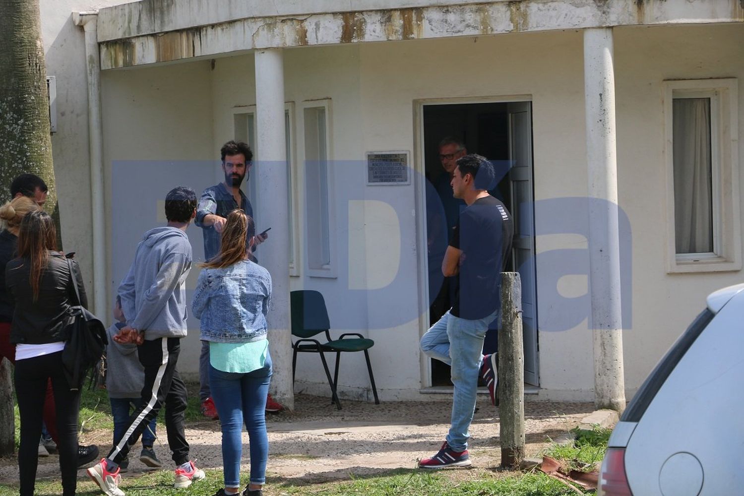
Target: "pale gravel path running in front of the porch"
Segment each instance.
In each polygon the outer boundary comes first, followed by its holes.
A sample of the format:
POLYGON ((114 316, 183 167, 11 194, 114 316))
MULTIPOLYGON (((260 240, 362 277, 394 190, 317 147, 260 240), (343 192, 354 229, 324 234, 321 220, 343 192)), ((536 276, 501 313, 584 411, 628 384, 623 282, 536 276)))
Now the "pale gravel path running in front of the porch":
MULTIPOLYGON (((418 459, 437 451, 449 428, 450 402, 374 405, 346 400, 342 405, 344 409, 339 411, 328 398, 299 395, 295 412, 269 416, 269 474, 307 483, 347 478, 350 474, 373 474, 391 468, 414 468, 418 459)), ((478 407, 470 433, 473 464, 484 468, 498 466, 501 455, 498 412, 487 396, 479 395, 478 407)), ((578 425, 593 409, 589 403, 527 402, 527 454, 538 453, 545 448, 549 437, 557 437, 578 425)), ((110 446, 110 436, 103 431, 86 433, 81 442, 97 442, 104 451, 110 446)), ((187 426, 186 437, 199 467, 221 468, 218 422, 191 423, 187 426)), ((244 470, 247 471, 246 433, 243 433, 243 442, 244 470)), ((169 460, 166 446, 156 443, 155 451, 161 460, 169 460)), ((56 456, 39 460, 38 477, 55 477, 58 463, 56 456)), ((139 460, 132 460, 129 468, 132 475, 145 469, 139 460)), ((85 477, 85 472, 81 470, 79 475, 85 477)), ((0 482, 17 480, 16 461, 0 460, 0 482)))

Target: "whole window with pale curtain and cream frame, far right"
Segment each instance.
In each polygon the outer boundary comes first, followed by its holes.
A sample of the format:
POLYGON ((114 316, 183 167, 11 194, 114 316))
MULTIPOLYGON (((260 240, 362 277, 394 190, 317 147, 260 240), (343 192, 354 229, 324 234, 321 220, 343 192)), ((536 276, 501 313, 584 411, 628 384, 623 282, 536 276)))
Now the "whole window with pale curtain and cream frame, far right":
POLYGON ((667 80, 661 88, 667 273, 739 271, 739 82, 667 80))

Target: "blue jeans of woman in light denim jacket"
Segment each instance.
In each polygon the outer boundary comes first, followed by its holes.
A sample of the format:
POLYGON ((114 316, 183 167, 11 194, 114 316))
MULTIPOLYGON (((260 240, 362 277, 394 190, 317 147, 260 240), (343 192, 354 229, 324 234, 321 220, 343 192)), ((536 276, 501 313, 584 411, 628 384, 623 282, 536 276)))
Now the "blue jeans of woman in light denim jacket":
POLYGON ((272 358, 266 353, 263 368, 248 373, 222 372, 209 366, 212 399, 222 423, 222 464, 225 487, 240 487, 240 458, 243 423, 248 430, 251 449, 251 483, 266 482, 269 438, 266 436, 266 395, 272 377, 272 358))

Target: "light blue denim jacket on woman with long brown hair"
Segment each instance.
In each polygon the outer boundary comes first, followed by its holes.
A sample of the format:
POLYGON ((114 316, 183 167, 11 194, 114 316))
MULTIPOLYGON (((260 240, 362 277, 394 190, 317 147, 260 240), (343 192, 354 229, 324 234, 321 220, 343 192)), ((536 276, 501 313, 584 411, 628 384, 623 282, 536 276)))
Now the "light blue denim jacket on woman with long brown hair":
POLYGON ((199 274, 191 309, 200 319, 202 341, 248 343, 266 339, 272 277, 266 268, 242 260, 199 274))

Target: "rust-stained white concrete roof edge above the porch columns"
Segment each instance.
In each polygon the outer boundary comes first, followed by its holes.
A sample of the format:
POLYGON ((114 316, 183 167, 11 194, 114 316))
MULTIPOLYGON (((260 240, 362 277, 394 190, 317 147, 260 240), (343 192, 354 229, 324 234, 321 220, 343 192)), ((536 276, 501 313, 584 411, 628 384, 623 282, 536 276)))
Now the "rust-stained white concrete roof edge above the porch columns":
POLYGON ((102 69, 256 48, 618 25, 744 22, 744 0, 143 0, 101 9, 102 69), (350 4, 354 4, 354 8, 350 4), (307 4, 307 5, 306 5, 307 4), (339 6, 339 4, 342 4, 339 6))

